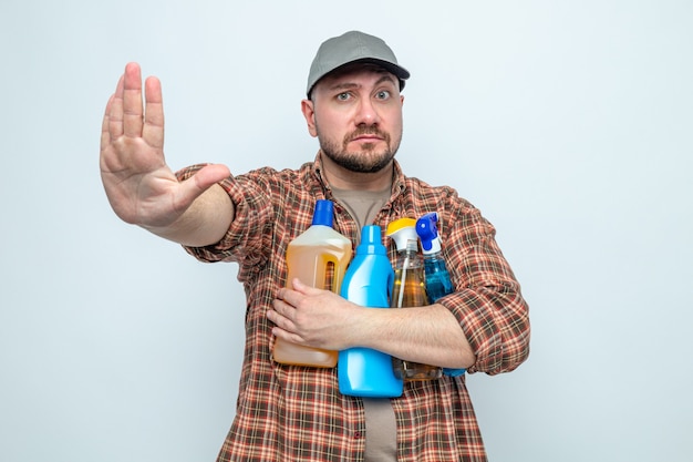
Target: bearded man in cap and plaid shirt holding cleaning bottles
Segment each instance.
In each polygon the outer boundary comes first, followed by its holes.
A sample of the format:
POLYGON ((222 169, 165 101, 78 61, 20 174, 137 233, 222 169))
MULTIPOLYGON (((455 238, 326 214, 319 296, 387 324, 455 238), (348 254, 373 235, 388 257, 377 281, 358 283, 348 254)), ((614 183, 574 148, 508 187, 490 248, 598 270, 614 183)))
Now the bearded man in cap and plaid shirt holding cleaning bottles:
MULTIPOLYGON (((236 418, 219 461, 484 461, 465 378, 406 382, 401 398, 339 393, 335 369, 272 361, 276 338, 330 350, 368 347, 404 360, 495 374, 529 351, 528 308, 495 229, 451 187, 405 176, 401 90, 410 73, 381 39, 348 32, 320 47, 302 112, 320 151, 299 170, 231 176, 223 165, 174 174, 163 154, 159 82, 128 64, 102 130, 102 179, 115 213, 207 261, 237 261, 247 295, 236 418), (294 280, 283 288, 287 244, 317 199, 358 243, 364 224, 439 215, 456 291, 436 304, 368 309, 294 280)), ((390 246, 394 259, 394 247, 390 246)))

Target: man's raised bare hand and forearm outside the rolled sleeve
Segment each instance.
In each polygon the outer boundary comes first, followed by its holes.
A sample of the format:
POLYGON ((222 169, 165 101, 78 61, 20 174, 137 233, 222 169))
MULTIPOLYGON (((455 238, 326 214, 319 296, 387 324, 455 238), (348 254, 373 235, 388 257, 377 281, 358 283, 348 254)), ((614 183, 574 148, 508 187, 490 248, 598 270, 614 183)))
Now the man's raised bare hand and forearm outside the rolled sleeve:
POLYGON ((124 222, 167 239, 205 246, 218 242, 234 219, 234 206, 217 185, 230 173, 207 165, 178 182, 164 158, 164 109, 156 78, 144 85, 130 63, 108 100, 101 131, 101 178, 108 202, 124 222))

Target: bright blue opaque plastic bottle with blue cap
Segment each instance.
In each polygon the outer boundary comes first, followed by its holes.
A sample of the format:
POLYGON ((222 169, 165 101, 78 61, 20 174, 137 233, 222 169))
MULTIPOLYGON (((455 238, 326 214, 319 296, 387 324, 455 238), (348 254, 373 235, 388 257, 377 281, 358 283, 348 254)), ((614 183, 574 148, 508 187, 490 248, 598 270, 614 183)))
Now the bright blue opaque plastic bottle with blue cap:
MULTIPOLYGON (((346 269, 341 295, 369 308, 389 308, 394 271, 382 244, 380 226, 364 226, 361 243, 346 269)), ((370 348, 349 348, 339 352, 337 363, 342 394, 368 398, 402 396, 403 381, 392 369, 392 357, 370 348)))

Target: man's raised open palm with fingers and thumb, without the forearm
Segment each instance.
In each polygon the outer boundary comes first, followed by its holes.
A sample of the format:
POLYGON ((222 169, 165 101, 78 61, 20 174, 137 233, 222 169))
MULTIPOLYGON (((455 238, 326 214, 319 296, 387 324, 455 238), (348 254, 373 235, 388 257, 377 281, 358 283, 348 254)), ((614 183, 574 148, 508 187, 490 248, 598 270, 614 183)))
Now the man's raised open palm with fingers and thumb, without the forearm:
POLYGON ((114 212, 143 227, 165 227, 183 215, 207 188, 229 175, 224 165, 208 165, 178 182, 164 158, 162 86, 145 81, 130 63, 108 100, 101 132, 101 177, 114 212))

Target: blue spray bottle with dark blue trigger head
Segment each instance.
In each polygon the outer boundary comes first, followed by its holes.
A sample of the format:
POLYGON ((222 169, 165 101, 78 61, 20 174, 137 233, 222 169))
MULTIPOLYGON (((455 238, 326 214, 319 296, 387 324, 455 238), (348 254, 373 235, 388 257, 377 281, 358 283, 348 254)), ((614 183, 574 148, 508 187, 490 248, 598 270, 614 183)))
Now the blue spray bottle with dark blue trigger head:
MULTIPOLYGON (((421 249, 424 254, 424 276, 428 300, 434 304, 438 298, 452 294, 455 288, 447 273, 445 259, 441 251, 441 237, 438 236, 438 214, 432 212, 416 220, 416 234, 421 239, 421 249)), ((457 377, 465 373, 465 369, 443 368, 443 373, 457 377)))

